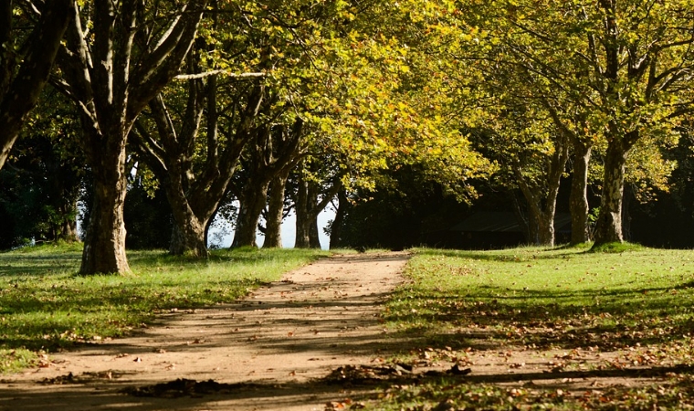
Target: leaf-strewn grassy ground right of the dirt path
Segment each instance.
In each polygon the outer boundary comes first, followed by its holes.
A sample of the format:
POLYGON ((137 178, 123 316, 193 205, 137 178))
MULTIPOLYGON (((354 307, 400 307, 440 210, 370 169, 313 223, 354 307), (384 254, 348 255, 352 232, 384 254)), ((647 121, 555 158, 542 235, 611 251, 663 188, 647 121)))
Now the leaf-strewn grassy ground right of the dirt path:
POLYGON ((443 372, 373 409, 694 407, 694 251, 420 249, 406 277, 385 321, 410 344, 391 361, 443 372))

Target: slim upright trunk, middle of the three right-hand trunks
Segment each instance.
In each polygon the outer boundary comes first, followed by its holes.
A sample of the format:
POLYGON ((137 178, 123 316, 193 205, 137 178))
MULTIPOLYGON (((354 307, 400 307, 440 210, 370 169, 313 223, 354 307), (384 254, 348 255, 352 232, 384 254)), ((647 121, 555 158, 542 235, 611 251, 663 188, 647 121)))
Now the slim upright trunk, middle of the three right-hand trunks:
POLYGON ((573 174, 571 180, 571 195, 569 209, 571 212, 571 244, 581 244, 590 240, 588 229, 588 164, 591 159, 592 147, 573 141, 573 174))

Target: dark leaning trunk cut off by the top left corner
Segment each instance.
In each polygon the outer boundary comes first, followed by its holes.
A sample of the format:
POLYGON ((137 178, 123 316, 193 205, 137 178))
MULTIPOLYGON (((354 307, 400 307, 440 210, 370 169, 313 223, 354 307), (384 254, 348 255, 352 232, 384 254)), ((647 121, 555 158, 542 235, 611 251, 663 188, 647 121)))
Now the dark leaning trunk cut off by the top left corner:
POLYGON ((0 5, 0 169, 37 103, 58 54, 74 0, 0 5), (22 26, 32 27, 23 33, 22 26))

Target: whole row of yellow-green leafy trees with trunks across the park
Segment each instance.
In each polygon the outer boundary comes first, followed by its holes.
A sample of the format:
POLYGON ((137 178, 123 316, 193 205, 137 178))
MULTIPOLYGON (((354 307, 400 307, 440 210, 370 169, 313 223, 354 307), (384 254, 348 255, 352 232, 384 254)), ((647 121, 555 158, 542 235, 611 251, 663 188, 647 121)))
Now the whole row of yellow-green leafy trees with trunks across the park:
POLYGON ((337 242, 347 207, 412 169, 458 201, 517 190, 546 245, 567 174, 572 242, 590 239, 597 182, 594 243, 622 241, 626 182, 667 189, 694 107, 688 0, 7 1, 0 21, 3 196, 54 237, 89 202, 85 274, 130 270, 134 184, 165 195, 169 251, 200 258, 225 214, 233 247, 261 215, 279 247, 289 209, 316 247, 339 198, 337 242))

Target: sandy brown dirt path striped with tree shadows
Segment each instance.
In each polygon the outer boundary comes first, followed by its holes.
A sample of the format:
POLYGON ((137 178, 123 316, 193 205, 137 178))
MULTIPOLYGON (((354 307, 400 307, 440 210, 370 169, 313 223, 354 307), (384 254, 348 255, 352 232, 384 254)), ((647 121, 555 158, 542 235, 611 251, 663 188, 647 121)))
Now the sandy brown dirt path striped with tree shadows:
POLYGON ((0 410, 323 410, 335 399, 357 401, 364 393, 312 381, 370 364, 396 344, 384 335, 380 304, 407 258, 323 259, 235 304, 174 311, 131 338, 51 355, 50 366, 0 381, 0 410), (228 385, 223 394, 177 398, 122 392, 178 378, 228 385))

